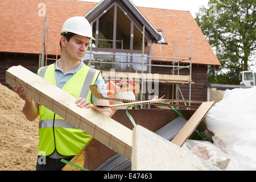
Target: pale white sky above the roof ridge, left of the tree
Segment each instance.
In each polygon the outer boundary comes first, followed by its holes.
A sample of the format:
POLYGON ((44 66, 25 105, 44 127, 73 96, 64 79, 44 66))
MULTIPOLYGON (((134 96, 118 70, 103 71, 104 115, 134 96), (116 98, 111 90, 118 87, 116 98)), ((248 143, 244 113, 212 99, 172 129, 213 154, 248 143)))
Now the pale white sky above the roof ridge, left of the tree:
MULTIPOLYGON (((83 1, 83 0, 80 0, 83 1)), ((90 2, 100 2, 101 0, 85 0, 90 2)), ((196 13, 201 6, 208 7, 209 0, 131 0, 135 6, 155 7, 160 9, 190 11, 196 18, 196 13)))

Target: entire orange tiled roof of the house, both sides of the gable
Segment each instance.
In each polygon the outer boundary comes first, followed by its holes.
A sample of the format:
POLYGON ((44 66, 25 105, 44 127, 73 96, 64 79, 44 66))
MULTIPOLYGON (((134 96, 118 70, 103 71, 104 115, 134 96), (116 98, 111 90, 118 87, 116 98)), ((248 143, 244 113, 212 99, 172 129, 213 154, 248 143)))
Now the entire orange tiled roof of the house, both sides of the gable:
MULTIPOLYGON (((60 54, 59 31, 63 22, 72 16, 88 13, 97 3, 64 0, 12 0, 1 2, 0 52, 42 53, 43 16, 38 15, 46 5, 46 49, 48 54, 60 54)), ((174 11, 138 7, 156 29, 162 29, 168 45, 152 45, 152 56, 190 57, 192 63, 220 65, 209 43, 189 11, 174 11), (175 55, 174 55, 175 43, 175 55)), ((157 60, 157 59, 154 59, 157 60)), ((162 60, 162 59, 161 59, 162 60)), ((172 61, 169 59, 167 61, 172 61)))

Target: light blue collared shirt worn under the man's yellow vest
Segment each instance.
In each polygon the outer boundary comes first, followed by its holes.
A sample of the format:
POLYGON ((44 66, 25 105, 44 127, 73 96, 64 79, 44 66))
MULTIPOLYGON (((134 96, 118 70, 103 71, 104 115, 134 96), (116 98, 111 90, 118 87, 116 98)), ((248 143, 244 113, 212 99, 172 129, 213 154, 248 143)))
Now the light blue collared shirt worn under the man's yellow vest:
MULTIPOLYGON (((64 74, 61 69, 58 67, 58 63, 60 60, 57 60, 55 64, 55 81, 56 85, 59 88, 63 88, 63 86, 67 83, 67 81, 77 72, 79 69, 84 65, 84 62, 81 61, 78 67, 75 69, 72 69, 68 73, 64 74)), ((108 97, 107 96, 107 91, 106 91, 106 86, 105 86, 105 81, 103 80, 101 74, 98 76, 95 84, 98 86, 98 89, 100 90, 101 94, 103 97, 108 97)), ((92 102, 96 102, 100 99, 95 98, 92 94, 92 102)))

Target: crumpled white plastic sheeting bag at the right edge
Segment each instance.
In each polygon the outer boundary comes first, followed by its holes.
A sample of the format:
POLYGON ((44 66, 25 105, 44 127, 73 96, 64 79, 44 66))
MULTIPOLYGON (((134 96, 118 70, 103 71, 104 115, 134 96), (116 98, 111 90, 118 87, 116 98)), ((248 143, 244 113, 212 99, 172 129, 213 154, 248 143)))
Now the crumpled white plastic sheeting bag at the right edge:
POLYGON ((207 129, 226 143, 237 170, 256 170, 256 86, 226 90, 205 121, 207 129))

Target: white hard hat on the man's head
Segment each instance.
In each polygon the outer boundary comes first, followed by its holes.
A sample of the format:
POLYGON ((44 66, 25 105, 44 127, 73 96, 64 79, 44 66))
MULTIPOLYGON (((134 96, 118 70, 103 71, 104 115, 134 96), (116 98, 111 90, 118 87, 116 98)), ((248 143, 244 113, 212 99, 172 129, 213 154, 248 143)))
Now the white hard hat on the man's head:
POLYGON ((96 40, 92 36, 92 27, 90 26, 90 23, 83 16, 74 16, 67 19, 63 24, 60 35, 64 32, 72 32, 96 40))

